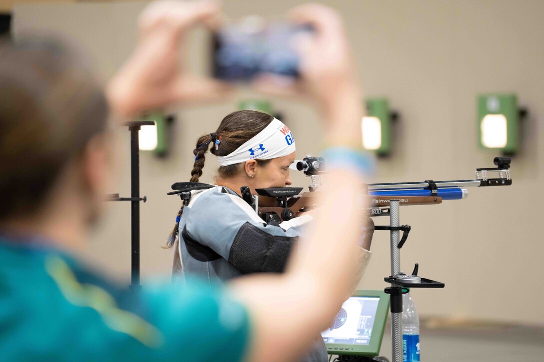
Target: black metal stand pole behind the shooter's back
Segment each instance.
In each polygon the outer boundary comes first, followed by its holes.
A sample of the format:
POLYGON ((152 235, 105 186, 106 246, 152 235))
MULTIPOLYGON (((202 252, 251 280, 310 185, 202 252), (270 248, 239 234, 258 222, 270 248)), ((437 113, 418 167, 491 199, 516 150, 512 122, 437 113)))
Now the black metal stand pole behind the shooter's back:
POLYGON ((127 122, 131 132, 131 197, 119 197, 119 194, 108 195, 108 201, 131 202, 131 284, 130 290, 137 291, 140 284, 140 201, 146 202, 147 197, 140 197, 140 145, 139 130, 141 126, 153 126, 152 121, 127 122))

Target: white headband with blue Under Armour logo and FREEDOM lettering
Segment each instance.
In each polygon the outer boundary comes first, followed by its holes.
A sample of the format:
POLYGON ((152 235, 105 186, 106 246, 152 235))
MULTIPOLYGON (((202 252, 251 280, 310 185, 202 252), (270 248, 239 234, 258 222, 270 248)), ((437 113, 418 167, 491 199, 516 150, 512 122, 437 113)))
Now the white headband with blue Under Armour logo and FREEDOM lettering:
POLYGON ((270 124, 254 138, 238 147, 236 151, 219 156, 219 165, 240 164, 252 159, 268 160, 295 152, 293 133, 280 120, 274 118, 270 124))

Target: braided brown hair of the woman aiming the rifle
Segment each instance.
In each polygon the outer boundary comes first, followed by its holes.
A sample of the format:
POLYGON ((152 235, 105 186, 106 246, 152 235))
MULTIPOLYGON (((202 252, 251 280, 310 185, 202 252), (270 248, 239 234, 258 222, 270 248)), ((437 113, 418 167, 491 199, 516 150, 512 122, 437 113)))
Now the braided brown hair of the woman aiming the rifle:
MULTIPOLYGON (((215 149, 212 134, 202 135, 196 141, 196 148, 193 150, 195 163, 193 170, 191 170, 191 182, 198 182, 200 176, 202 176, 202 168, 206 161, 205 154, 208 151, 208 148, 209 152, 216 156, 226 156, 236 151, 236 149, 245 142, 254 138, 254 136, 266 128, 273 120, 273 116, 255 110, 241 110, 228 114, 223 118, 213 135, 219 140, 217 150, 215 149)), ((270 162, 270 160, 259 159, 256 159, 256 161, 261 166, 270 162)), ((240 172, 240 165, 242 164, 220 166, 217 170, 217 174, 219 177, 232 177, 240 172)), ((178 211, 177 216, 181 217, 182 213, 183 206, 180 211, 178 211)), ((168 241, 166 241, 165 248, 171 247, 176 242, 178 227, 179 223, 176 222, 169 235, 168 241)))

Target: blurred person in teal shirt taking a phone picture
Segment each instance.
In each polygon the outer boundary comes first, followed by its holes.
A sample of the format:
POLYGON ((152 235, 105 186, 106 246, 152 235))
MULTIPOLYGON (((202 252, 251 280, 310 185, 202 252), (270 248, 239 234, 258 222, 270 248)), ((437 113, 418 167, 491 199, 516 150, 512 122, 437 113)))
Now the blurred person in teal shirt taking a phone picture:
POLYGON ((362 97, 338 16, 319 5, 291 15, 317 29, 305 47, 302 83, 292 91, 304 88, 320 104, 330 192, 285 273, 212 289, 188 279, 180 289, 129 292, 67 251, 85 245, 100 215, 112 173, 110 113, 130 118, 228 91, 189 74, 177 59, 190 27, 217 21, 217 5, 150 4, 137 49, 105 92, 57 43, 1 46, 2 360, 296 360, 329 326, 370 256, 355 252, 366 159, 349 148, 361 144, 362 97), (317 49, 320 57, 312 59, 317 49))

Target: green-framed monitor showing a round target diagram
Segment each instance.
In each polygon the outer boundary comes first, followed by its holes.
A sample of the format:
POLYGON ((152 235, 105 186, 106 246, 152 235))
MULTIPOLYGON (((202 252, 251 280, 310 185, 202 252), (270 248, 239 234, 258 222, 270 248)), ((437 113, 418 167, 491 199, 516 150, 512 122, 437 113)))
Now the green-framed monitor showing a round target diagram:
POLYGON ((387 321, 389 296, 380 290, 357 290, 342 304, 321 335, 329 354, 379 354, 387 321))

